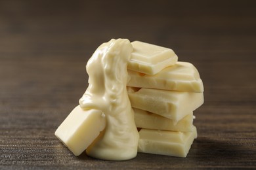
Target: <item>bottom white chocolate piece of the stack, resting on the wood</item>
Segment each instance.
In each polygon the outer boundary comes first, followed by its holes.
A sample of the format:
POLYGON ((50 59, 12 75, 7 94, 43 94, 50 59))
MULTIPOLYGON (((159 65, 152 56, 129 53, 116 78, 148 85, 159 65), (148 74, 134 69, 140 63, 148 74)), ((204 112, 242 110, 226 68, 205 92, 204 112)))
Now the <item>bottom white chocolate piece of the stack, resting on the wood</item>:
POLYGON ((185 158, 197 137, 196 127, 192 132, 140 129, 138 152, 185 158))

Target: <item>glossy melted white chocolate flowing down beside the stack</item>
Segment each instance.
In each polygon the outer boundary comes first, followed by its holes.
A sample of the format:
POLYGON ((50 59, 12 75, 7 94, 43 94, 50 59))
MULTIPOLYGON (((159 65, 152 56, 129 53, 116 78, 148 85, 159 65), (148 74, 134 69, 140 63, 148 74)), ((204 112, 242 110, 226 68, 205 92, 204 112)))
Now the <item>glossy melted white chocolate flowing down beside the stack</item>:
POLYGON ((79 105, 84 110, 101 110, 106 116, 104 131, 86 150, 94 158, 129 160, 137 156, 139 133, 126 90, 131 52, 129 40, 112 39, 100 45, 87 63, 89 86, 79 105))

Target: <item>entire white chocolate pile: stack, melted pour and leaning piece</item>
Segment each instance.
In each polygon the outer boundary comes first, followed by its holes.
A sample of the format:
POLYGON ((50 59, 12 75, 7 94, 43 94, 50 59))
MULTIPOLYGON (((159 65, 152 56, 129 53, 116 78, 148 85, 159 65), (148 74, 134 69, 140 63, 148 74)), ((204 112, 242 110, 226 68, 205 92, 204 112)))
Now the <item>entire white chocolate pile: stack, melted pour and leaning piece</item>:
POLYGON ((129 160, 138 151, 186 157, 197 137, 192 112, 203 103, 203 84, 194 65, 177 59, 173 50, 145 42, 101 44, 86 66, 89 86, 56 137, 75 156, 86 150, 102 160, 129 160))

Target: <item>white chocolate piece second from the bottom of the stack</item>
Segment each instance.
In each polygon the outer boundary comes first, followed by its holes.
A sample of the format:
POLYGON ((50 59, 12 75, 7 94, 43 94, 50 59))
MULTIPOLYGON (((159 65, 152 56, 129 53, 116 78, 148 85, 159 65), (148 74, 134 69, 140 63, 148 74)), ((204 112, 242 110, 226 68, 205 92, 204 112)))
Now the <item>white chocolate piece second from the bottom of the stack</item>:
POLYGON ((168 131, 192 131, 193 129, 193 112, 175 122, 169 118, 159 116, 146 110, 133 108, 135 112, 135 124, 143 129, 158 129, 168 131))

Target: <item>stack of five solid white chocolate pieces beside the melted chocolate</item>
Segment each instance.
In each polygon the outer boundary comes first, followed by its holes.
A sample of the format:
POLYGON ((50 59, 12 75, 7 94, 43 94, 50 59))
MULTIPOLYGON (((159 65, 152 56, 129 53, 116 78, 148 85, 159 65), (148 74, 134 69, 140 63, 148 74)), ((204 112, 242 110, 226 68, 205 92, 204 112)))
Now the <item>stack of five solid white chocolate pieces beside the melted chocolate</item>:
POLYGON ((193 112, 203 104, 198 70, 173 50, 134 41, 127 92, 139 129, 139 152, 186 157, 197 137, 193 112))

